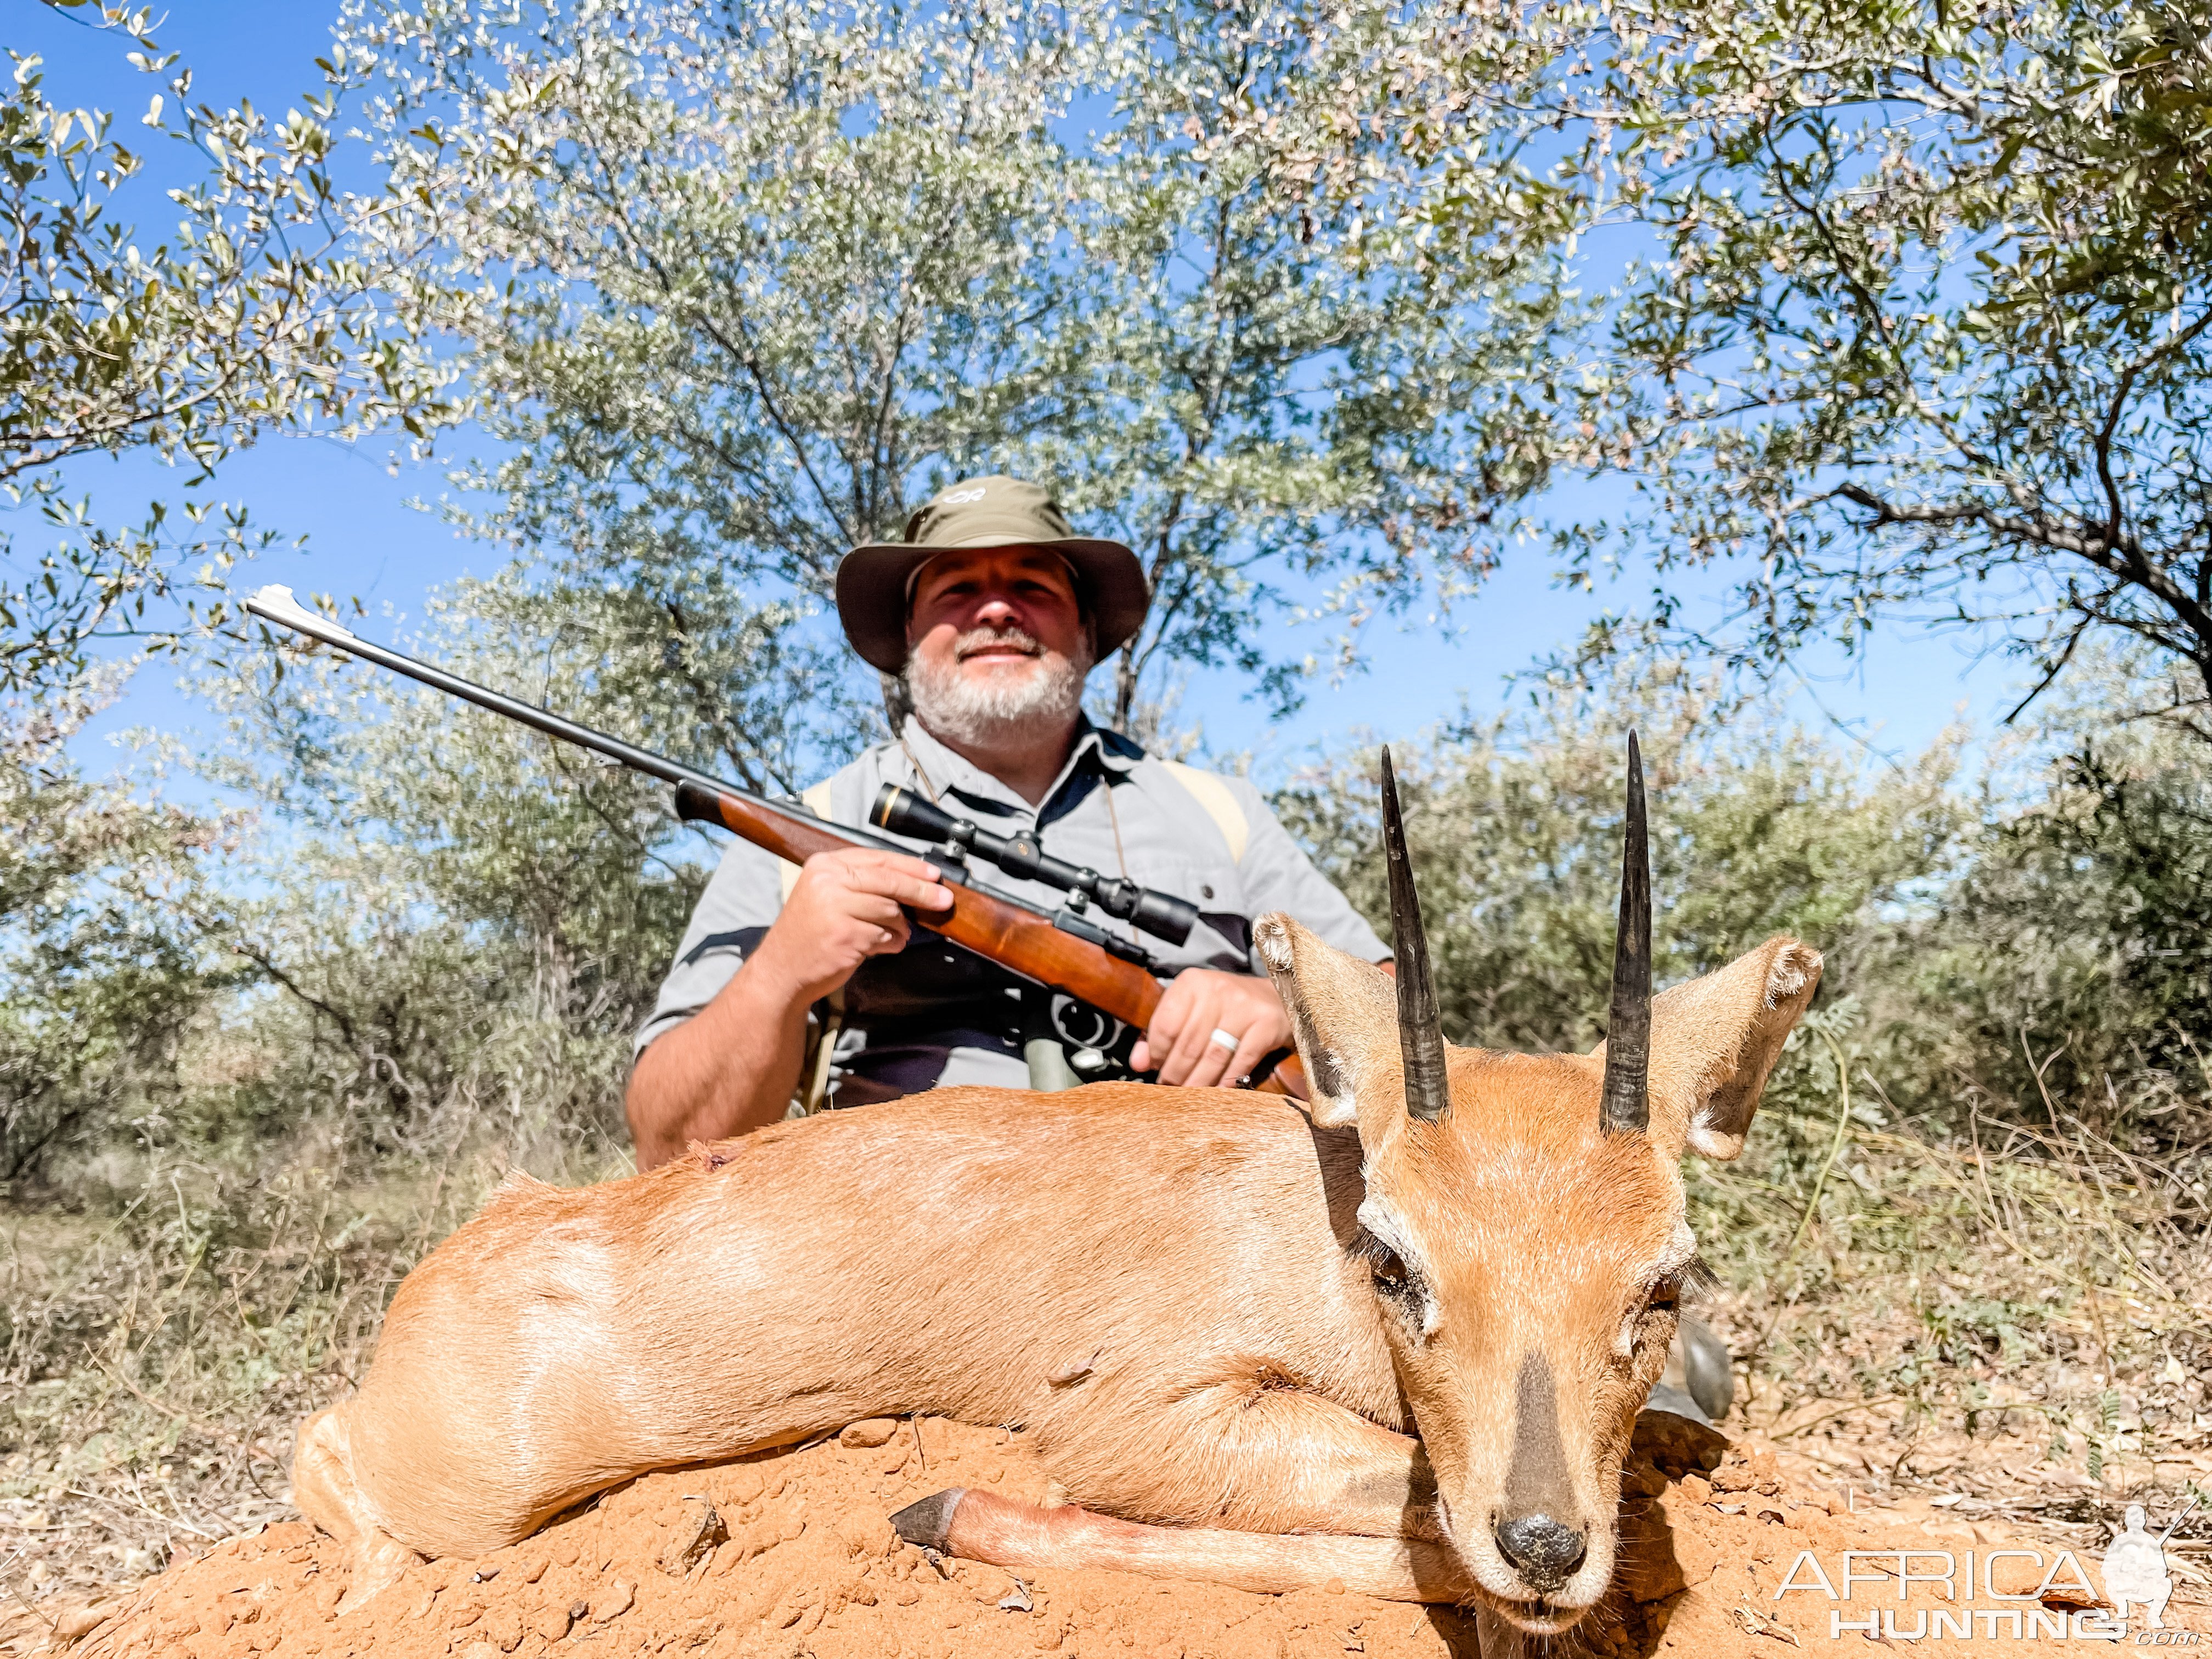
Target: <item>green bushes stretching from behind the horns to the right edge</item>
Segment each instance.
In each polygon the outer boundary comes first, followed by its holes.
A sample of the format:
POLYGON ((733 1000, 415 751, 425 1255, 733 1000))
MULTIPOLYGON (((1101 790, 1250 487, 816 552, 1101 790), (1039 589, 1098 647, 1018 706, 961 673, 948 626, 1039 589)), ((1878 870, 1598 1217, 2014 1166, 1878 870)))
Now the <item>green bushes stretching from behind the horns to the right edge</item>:
MULTIPOLYGON (((1719 706, 1666 664, 1394 745, 1444 1029, 1504 1048, 1604 1035, 1637 728, 1661 984, 1796 933, 1825 953, 1820 1006, 1889 1110, 1944 1130, 1971 1106, 2197 1139, 2212 757, 2154 721, 2115 723, 2104 710, 2132 690, 2124 666, 2088 670, 2077 703, 2015 745, 2008 792, 1960 787, 1955 737, 1885 768, 1719 706)), ((1387 927, 1376 772, 1374 750, 1329 757, 1279 807, 1387 927)), ((1801 1073, 1783 1068, 1776 1099, 1801 1073)))

